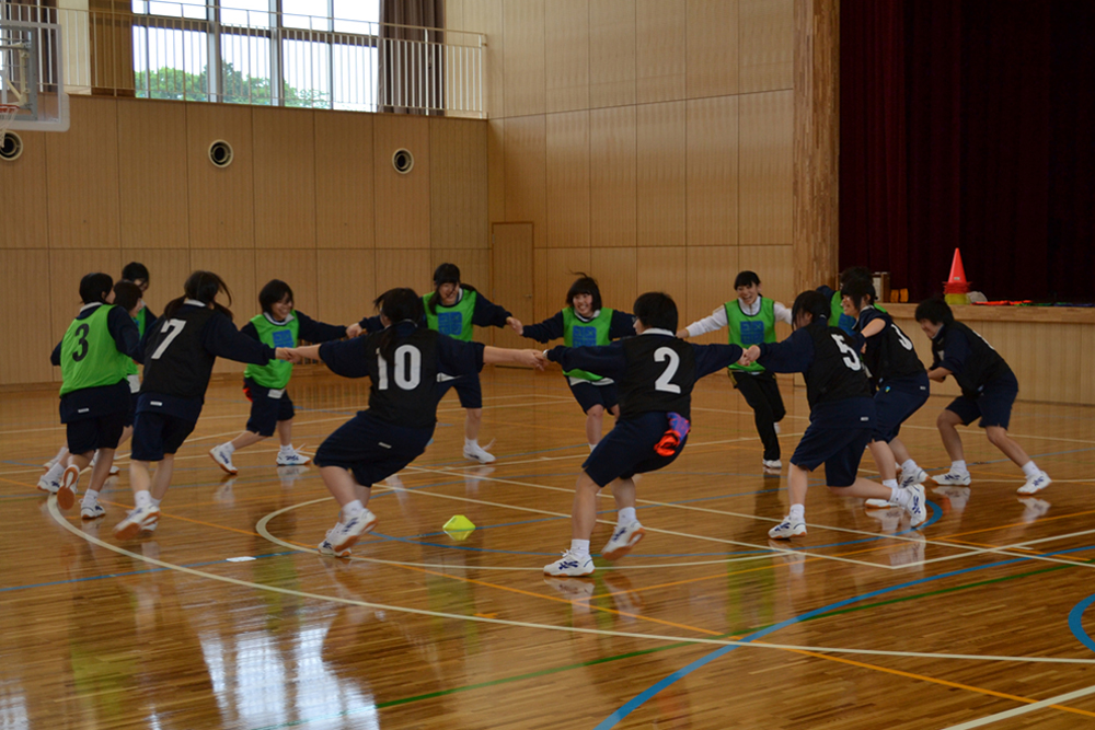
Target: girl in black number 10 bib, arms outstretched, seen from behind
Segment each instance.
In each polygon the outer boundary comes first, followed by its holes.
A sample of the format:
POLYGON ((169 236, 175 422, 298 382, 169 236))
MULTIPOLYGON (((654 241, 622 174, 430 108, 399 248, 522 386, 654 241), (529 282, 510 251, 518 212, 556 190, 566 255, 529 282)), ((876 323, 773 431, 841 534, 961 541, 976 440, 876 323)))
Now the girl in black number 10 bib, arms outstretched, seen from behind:
POLYGON ((341 426, 315 452, 320 475, 342 508, 338 522, 319 545, 322 555, 349 555, 358 537, 377 524, 368 508, 372 485, 425 451, 442 395, 439 374, 472 376, 492 362, 543 369, 538 351, 465 343, 420 327, 423 301, 412 289, 392 289, 374 303, 381 332, 290 350, 295 361, 320 359, 338 375, 372 381, 369 409, 341 426))

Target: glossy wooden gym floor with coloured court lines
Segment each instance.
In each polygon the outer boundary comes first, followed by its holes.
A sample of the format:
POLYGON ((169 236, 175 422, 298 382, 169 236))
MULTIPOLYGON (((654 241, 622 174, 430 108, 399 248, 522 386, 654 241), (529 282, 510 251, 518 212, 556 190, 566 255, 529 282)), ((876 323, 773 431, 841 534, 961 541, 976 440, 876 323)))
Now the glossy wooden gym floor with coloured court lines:
MULTIPOLYGON (((1054 479, 1037 497, 968 429, 972 488, 930 489, 923 530, 819 487, 787 545, 766 537, 785 479, 708 378, 684 454, 639 483, 646 540, 584 581, 541 572, 569 541, 578 406, 557 370, 483 381, 497 464, 461 457, 450 395, 401 486, 374 489, 380 523, 350 560, 314 551, 336 512, 315 468, 279 474, 264 442, 229 479, 206 455, 246 420, 234 382, 210 387, 159 530, 125 544, 125 471, 105 519, 58 512, 34 489, 64 439, 56 395, 3 395, 0 729, 1095 728, 1092 409, 1017 406, 1012 434, 1054 479), (454 514, 465 540, 441 530, 454 514)), ((297 444, 366 385, 298 378, 297 444)), ((808 412, 784 396, 786 463, 808 412)), ((902 431, 933 472, 945 403, 902 431)))

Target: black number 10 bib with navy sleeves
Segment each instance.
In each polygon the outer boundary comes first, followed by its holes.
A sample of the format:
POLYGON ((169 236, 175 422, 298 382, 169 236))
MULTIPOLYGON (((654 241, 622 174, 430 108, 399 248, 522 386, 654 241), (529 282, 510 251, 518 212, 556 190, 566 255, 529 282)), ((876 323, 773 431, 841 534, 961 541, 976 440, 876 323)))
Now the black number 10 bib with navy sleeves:
POLYGON ((354 339, 324 343, 320 359, 333 373, 366 378, 369 414, 395 426, 433 429, 441 399, 438 375, 459 378, 483 369, 481 343, 462 343, 434 329, 406 322, 397 325, 399 339, 388 362, 380 355, 383 331, 354 339))

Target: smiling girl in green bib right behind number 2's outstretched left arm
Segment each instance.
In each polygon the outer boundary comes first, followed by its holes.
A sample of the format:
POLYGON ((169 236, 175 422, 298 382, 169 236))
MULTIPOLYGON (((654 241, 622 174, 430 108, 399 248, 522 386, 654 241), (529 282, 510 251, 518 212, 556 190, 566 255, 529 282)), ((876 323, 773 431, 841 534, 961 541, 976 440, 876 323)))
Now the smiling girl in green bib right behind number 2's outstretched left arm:
MULTIPOLYGON (((514 332, 538 343, 562 337, 567 347, 608 345, 613 339, 635 334, 634 316, 601 306, 601 290, 592 277, 579 275, 566 292, 566 309, 539 324, 522 325, 515 320, 514 332)), ((604 412, 618 418, 620 416, 620 394, 615 381, 579 369, 567 370, 563 374, 574 399, 586 414, 586 440, 592 451, 601 440, 604 412)))

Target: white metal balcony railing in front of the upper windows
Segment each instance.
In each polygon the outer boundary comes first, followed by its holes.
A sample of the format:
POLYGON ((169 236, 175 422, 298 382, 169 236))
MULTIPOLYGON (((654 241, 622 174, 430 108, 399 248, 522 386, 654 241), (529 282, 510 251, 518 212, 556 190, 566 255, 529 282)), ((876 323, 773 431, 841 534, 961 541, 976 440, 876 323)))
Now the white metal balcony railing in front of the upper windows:
POLYGON ((486 116, 479 33, 219 4, 134 9, 145 12, 0 2, 0 26, 58 23, 70 94, 486 116))

